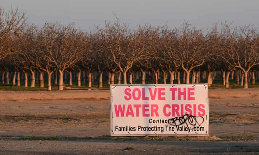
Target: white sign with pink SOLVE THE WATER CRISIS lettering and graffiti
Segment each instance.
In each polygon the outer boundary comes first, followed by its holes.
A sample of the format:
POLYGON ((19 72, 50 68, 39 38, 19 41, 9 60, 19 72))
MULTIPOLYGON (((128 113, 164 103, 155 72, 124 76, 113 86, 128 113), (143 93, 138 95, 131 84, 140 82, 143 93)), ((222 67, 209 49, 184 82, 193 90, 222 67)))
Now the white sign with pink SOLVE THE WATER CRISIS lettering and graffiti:
POLYGON ((111 84, 111 136, 209 135, 207 84, 111 84))

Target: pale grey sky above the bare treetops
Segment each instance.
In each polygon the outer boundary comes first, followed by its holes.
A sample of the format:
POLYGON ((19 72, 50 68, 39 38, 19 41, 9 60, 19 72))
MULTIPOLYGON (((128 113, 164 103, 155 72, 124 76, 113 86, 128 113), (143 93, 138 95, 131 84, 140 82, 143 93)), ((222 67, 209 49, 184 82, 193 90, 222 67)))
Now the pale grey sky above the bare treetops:
POLYGON ((180 27, 184 21, 203 29, 221 21, 259 27, 259 0, 1 0, 0 5, 5 10, 19 7, 26 11, 28 21, 38 26, 46 21, 74 22, 76 27, 88 30, 94 24, 103 26, 106 20, 114 21, 114 12, 131 27, 166 22, 169 27, 180 27))

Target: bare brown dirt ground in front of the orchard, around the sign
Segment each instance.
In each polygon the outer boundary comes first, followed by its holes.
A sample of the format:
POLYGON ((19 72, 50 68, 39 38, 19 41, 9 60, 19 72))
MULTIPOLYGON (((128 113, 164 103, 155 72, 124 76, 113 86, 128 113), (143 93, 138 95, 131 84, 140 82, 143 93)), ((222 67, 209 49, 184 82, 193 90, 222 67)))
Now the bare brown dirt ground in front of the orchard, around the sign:
POLYGON ((205 137, 110 137, 109 96, 108 90, 0 91, 0 154, 259 153, 259 89, 209 89, 205 137))

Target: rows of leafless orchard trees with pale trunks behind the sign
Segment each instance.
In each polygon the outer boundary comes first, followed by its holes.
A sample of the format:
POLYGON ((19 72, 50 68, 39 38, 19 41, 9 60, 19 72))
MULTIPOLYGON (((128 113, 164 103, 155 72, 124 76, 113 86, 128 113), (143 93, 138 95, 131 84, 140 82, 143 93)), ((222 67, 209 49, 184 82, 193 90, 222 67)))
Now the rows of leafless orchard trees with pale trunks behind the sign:
POLYGON ((88 87, 91 87, 93 75, 99 78, 99 87, 102 87, 103 73, 111 84, 115 78, 118 84, 121 79, 127 84, 127 80, 132 83, 135 77, 141 76, 144 84, 149 75, 155 84, 159 77, 163 83, 169 77, 171 84, 175 78, 177 83, 186 84, 207 79, 210 85, 216 72, 220 71, 226 88, 230 74, 235 74, 244 88, 248 88, 250 74, 252 83, 255 77, 258 78, 259 34, 249 25, 214 24, 205 32, 188 22, 180 28, 139 25, 130 29, 127 23, 117 20, 86 32, 73 24, 58 22, 46 22, 37 27, 26 24, 24 13, 18 9, 8 13, 1 11, 2 76, 4 78, 6 74, 9 78, 12 71, 15 81, 16 76, 18 80, 23 73, 25 87, 28 86, 28 74, 31 87, 35 87, 36 71, 40 87, 47 74, 48 90, 51 90, 53 73, 56 79, 59 77, 58 89, 63 90, 64 73, 70 75, 70 85, 72 73, 77 73, 77 85, 81 86, 85 71, 88 72, 88 87))

